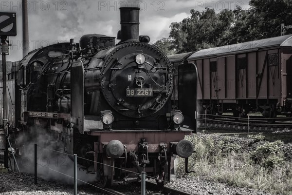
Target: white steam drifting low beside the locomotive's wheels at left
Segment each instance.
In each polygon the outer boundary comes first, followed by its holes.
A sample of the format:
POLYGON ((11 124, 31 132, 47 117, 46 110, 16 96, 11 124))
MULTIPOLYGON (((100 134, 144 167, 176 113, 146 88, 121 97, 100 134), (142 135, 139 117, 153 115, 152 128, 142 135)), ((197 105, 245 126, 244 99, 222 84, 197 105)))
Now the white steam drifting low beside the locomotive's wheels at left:
MULTIPOLYGON (((37 177, 73 184, 74 163, 69 158, 70 155, 65 154, 63 150, 54 150, 55 143, 49 142, 49 140, 54 139, 45 129, 35 128, 33 131, 37 134, 28 138, 24 145, 23 154, 17 159, 20 172, 34 174, 35 143, 37 143, 37 177)), ((24 141, 24 139, 25 137, 21 136, 18 141, 24 141)), ((13 159, 11 161, 14 169, 13 159)), ((89 170, 93 173, 93 166, 89 170)), ((95 180, 95 175, 87 174, 83 166, 77 165, 77 178, 85 182, 92 182, 95 180)), ((84 184, 84 182, 78 181, 78 184, 84 184)))

